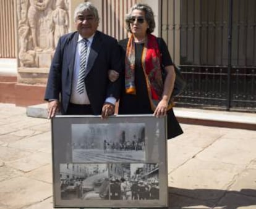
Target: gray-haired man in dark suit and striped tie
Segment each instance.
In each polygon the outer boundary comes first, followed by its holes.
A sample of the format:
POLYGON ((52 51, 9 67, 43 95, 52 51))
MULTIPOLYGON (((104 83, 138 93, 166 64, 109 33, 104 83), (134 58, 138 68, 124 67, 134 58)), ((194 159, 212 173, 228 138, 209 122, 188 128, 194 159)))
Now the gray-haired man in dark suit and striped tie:
POLYGON ((114 114, 121 80, 111 81, 108 73, 121 71, 121 55, 116 39, 97 30, 97 9, 83 2, 74 12, 77 31, 61 36, 56 47, 45 100, 48 118, 61 109, 63 115, 114 114))

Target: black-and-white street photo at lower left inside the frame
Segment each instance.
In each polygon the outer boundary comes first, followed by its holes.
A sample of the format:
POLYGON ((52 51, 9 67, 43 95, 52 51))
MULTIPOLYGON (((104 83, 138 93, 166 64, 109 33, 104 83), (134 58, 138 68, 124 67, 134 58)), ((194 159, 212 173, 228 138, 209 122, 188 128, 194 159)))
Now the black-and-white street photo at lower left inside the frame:
POLYGON ((60 164, 61 199, 109 199, 108 165, 85 163, 60 164))

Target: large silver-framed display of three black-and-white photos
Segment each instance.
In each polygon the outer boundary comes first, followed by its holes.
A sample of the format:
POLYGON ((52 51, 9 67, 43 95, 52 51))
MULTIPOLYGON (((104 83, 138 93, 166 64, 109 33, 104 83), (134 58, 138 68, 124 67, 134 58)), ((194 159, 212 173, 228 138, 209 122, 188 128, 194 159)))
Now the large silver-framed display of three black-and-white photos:
POLYGON ((54 208, 168 207, 166 118, 56 116, 54 208))

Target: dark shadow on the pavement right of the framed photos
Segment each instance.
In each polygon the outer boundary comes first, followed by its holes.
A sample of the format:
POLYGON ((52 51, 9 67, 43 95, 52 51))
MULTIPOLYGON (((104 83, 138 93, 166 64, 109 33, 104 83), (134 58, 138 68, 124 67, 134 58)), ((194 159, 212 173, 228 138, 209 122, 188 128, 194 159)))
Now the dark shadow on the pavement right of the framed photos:
POLYGON ((236 209, 255 205, 256 190, 226 191, 218 189, 181 189, 169 187, 169 208, 236 209))

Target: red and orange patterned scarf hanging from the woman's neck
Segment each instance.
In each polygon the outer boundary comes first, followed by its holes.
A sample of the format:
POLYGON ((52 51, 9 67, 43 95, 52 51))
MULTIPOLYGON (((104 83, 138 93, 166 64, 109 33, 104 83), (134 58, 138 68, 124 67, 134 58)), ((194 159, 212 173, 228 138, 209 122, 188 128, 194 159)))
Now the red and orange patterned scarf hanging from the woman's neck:
MULTIPOLYGON (((161 54, 156 36, 147 35, 142 51, 142 68, 145 75, 148 97, 151 109, 154 111, 163 94, 163 79, 161 73, 161 54)), ((127 94, 136 94, 135 82, 135 43, 131 35, 126 48, 125 84, 127 94)), ((171 108, 169 105, 168 109, 171 108)))

